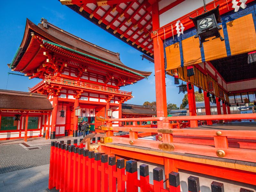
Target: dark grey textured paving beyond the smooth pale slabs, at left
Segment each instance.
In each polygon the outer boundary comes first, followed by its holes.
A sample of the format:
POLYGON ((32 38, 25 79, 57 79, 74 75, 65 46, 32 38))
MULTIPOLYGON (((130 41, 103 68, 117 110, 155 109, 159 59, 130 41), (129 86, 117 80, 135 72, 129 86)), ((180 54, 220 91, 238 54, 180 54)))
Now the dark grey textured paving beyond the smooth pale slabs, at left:
POLYGON ((34 150, 23 148, 20 144, 0 146, 0 174, 10 172, 12 175, 17 170, 49 164, 50 148, 51 145, 40 146, 39 149, 34 150))

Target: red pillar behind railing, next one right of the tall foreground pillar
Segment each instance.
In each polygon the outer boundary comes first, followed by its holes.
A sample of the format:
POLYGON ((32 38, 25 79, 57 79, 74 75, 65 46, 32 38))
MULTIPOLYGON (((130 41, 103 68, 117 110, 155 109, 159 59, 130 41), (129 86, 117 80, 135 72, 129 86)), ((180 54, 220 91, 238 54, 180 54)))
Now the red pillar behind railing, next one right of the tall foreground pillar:
MULTIPOLYGON (((189 116, 196 116, 196 99, 194 85, 191 84, 191 87, 192 89, 189 89, 187 83, 189 116)), ((197 121, 190 121, 190 127, 198 127, 197 121)))

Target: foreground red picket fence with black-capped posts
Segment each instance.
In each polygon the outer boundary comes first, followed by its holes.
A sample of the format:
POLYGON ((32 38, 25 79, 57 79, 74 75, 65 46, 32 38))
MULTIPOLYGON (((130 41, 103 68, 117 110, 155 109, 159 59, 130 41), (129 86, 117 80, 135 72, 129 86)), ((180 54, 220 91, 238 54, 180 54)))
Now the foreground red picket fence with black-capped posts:
MULTIPOLYGON (((140 187, 141 192, 180 192, 177 172, 170 172, 169 178, 163 180, 163 170, 153 169, 152 185, 149 183, 148 165, 140 165, 140 179, 138 179, 137 161, 125 162, 122 158, 116 160, 115 156, 95 153, 70 143, 70 140, 67 144, 63 141, 51 143, 49 189, 55 187, 63 192, 136 192, 140 187), (164 189, 164 182, 169 182, 168 190, 164 189)), ((80 144, 80 147, 82 145, 80 144)), ((211 188, 212 192, 224 192, 223 183, 213 181, 211 188)), ((188 178, 188 191, 200 191, 199 178, 194 176, 188 178)), ((242 188, 240 191, 251 192, 242 188)))

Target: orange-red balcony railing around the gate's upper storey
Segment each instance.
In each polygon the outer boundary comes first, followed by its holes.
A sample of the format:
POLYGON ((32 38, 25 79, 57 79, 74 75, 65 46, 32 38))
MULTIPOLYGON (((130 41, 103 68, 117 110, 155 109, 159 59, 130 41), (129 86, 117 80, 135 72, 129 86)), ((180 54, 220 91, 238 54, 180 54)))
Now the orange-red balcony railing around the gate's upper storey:
POLYGON ((62 84, 62 85, 67 85, 67 86, 72 86, 72 87, 79 87, 81 89, 90 89, 90 90, 101 91, 101 92, 127 95, 130 97, 132 96, 132 92, 121 91, 119 89, 111 88, 108 86, 100 86, 100 85, 84 83, 81 81, 75 81, 75 80, 71 80, 71 79, 67 79, 67 78, 60 78, 60 77, 47 77, 40 83, 36 84, 34 87, 29 88, 29 91, 33 92, 38 87, 40 87, 44 84, 47 84, 47 83, 62 84))

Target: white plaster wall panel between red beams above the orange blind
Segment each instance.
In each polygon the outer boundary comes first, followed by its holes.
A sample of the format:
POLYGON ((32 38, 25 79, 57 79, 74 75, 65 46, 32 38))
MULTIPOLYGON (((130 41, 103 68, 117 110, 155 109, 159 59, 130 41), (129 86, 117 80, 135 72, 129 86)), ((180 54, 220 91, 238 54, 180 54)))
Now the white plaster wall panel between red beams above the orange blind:
MULTIPOLYGON (((160 1, 161 2, 161 1, 160 1)), ((212 0, 205 0, 206 4, 212 2, 212 0)), ((159 15, 160 27, 177 20, 184 15, 193 12, 194 10, 204 6, 203 1, 199 0, 185 0, 182 3, 176 5, 172 9, 159 15)))

